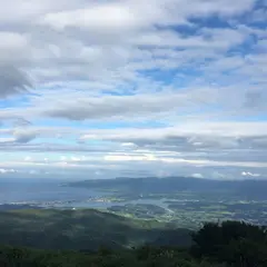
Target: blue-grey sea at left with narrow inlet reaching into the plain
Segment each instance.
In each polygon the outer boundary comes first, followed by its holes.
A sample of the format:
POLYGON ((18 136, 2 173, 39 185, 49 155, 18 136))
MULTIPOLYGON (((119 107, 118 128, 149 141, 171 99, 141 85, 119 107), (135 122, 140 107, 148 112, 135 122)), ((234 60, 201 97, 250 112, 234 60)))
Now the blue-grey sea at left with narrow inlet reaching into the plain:
POLYGON ((59 180, 0 179, 0 205, 33 205, 42 208, 100 208, 127 204, 152 204, 167 209, 166 199, 136 199, 130 201, 99 201, 108 192, 90 188, 65 186, 59 180))

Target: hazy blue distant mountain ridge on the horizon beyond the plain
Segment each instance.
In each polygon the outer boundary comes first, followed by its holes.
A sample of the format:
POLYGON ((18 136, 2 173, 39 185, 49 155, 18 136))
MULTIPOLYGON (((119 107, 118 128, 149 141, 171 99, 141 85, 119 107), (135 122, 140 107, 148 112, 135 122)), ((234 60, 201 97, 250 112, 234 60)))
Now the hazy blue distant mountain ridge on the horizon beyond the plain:
POLYGON ((211 180, 191 177, 116 178, 69 182, 68 186, 91 189, 116 188, 136 194, 170 194, 175 191, 228 191, 244 198, 267 199, 267 180, 211 180))

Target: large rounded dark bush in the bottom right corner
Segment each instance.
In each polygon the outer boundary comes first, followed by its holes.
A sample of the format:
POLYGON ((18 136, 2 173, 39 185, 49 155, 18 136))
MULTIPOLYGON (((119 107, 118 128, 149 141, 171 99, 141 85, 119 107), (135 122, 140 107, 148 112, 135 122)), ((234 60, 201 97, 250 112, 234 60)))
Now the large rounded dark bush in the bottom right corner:
POLYGON ((267 266, 266 228, 239 221, 206 224, 192 235, 196 257, 240 267, 267 266))

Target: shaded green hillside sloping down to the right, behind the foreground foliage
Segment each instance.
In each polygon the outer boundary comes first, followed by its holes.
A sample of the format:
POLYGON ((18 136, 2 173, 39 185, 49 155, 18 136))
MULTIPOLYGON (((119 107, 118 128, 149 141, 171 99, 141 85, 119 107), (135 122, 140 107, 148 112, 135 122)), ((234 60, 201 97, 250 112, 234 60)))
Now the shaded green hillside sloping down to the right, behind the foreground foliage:
POLYGON ((187 229, 135 220, 93 209, 12 210, 0 212, 0 240, 12 246, 49 249, 127 248, 141 244, 189 246, 187 229))

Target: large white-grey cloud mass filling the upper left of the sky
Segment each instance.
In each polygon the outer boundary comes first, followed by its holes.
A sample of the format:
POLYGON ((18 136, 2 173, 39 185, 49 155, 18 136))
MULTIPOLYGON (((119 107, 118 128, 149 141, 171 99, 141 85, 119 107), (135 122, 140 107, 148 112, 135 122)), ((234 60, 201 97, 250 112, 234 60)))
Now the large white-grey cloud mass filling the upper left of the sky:
MULTIPOLYGON (((113 71, 135 60, 135 51, 140 50, 138 46, 227 49, 240 43, 246 36, 234 29, 202 29, 196 36, 185 37, 166 27, 194 27, 190 19, 209 16, 228 19, 248 11, 255 3, 254 0, 228 2, 194 0, 188 6, 187 1, 178 0, 146 3, 132 0, 24 3, 12 0, 1 10, 0 23, 6 40, 1 51, 8 51, 1 58, 6 62, 19 62, 37 80, 63 81, 68 77, 90 79, 97 72, 101 72, 98 78, 107 78, 107 68, 113 71), (14 4, 21 10, 16 14, 14 4)), ((147 52, 146 49, 141 51, 147 52)))

